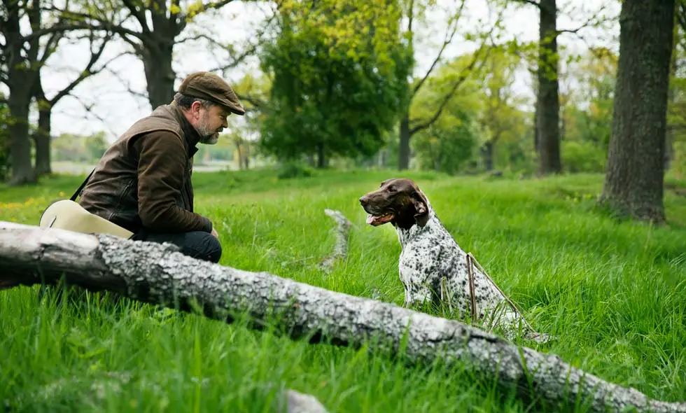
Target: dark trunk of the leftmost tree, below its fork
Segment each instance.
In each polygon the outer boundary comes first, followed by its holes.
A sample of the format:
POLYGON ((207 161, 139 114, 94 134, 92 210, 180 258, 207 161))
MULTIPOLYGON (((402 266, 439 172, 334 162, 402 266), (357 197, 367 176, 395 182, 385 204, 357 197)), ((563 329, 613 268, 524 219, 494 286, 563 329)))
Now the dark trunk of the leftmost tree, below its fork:
MULTIPOLYGON (((25 76, 28 78, 29 76, 25 76)), ((18 82, 20 83, 20 82, 18 82)), ((29 106, 31 104, 30 85, 19 84, 10 89, 8 106, 10 109, 10 156, 12 157, 12 176, 8 182, 12 186, 34 183, 36 174, 31 162, 31 141, 29 140, 29 106)))

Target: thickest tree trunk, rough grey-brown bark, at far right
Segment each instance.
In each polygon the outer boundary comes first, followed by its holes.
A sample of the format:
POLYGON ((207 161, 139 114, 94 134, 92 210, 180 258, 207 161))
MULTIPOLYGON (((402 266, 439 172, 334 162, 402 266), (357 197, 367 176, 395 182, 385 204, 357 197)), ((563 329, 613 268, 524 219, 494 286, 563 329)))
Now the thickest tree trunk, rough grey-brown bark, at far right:
POLYGON ((664 147, 675 0, 625 0, 612 136, 601 202, 622 216, 665 221, 664 147))

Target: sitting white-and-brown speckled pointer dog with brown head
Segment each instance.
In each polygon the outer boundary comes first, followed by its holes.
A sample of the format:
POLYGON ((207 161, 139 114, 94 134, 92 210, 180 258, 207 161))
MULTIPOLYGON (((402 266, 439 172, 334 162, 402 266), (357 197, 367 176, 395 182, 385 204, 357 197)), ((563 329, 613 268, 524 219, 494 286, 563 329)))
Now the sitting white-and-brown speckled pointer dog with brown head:
POLYGON ((501 328, 510 339, 521 325, 524 337, 547 341, 526 323, 473 256, 458 246, 414 181, 388 179, 360 197, 360 204, 369 214, 367 224, 391 223, 398 232, 403 307, 440 303, 461 319, 470 314, 472 321, 485 323, 489 330, 501 328))

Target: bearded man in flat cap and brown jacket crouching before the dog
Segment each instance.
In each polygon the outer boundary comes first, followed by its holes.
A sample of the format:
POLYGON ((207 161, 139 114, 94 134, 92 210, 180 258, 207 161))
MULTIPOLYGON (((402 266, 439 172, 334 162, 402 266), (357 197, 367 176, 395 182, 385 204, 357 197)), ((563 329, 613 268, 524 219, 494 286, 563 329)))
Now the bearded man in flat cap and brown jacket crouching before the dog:
POLYGON ((169 241, 181 252, 218 262, 216 228, 193 212, 193 155, 216 144, 227 117, 245 110, 228 83, 209 72, 190 74, 170 104, 138 120, 99 161, 78 203, 134 233, 132 239, 169 241))

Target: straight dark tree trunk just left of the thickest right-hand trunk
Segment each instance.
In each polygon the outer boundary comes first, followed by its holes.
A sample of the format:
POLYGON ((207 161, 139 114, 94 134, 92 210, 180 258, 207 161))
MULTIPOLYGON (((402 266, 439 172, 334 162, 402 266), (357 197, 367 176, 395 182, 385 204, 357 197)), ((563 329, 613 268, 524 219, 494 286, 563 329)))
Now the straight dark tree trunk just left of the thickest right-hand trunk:
POLYGON ((562 172, 560 160, 559 55, 556 0, 540 0, 538 56, 538 173, 562 172))

